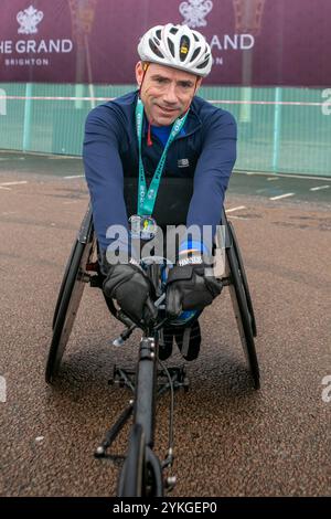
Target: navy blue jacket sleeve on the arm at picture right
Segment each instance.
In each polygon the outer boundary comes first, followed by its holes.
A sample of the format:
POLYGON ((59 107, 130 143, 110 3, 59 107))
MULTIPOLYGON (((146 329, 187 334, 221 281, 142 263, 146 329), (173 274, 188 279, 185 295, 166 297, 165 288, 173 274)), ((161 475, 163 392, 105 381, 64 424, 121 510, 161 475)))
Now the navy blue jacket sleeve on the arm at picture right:
MULTIPOLYGON (((236 160, 237 127, 235 118, 216 110, 210 119, 202 152, 194 173, 194 190, 188 214, 188 226, 220 224, 224 195, 236 160)), ((209 250, 211 244, 205 243, 209 250)))

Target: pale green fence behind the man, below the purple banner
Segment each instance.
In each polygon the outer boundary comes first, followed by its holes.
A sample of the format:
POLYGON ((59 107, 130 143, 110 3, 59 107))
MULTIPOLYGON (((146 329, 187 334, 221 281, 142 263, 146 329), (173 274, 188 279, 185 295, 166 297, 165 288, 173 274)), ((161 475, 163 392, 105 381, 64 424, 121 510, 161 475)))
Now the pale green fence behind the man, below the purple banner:
MULTIPOLYGON (((87 113, 135 86, 2 83, 0 88, 1 149, 81 155, 87 113)), ((312 88, 200 91, 237 119, 236 169, 331 177, 327 94, 312 88)))

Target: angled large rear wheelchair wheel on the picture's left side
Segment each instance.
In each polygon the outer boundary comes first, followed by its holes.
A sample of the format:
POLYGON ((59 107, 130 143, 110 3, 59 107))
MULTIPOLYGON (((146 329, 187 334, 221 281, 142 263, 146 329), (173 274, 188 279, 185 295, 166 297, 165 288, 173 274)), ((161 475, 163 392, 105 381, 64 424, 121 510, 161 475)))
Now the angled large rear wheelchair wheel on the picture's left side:
POLYGON ((86 283, 86 263, 94 248, 92 213, 88 210, 67 262, 54 318, 53 338, 46 362, 45 380, 52 383, 57 374, 86 283))

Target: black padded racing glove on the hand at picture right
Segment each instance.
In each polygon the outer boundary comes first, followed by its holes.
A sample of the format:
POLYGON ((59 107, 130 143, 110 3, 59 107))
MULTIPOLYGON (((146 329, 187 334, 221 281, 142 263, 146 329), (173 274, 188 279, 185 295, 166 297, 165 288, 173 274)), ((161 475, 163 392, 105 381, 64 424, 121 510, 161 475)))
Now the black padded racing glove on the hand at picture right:
POLYGON ((167 279, 166 309, 171 317, 182 310, 202 310, 222 292, 222 282, 211 274, 200 254, 179 256, 167 279))

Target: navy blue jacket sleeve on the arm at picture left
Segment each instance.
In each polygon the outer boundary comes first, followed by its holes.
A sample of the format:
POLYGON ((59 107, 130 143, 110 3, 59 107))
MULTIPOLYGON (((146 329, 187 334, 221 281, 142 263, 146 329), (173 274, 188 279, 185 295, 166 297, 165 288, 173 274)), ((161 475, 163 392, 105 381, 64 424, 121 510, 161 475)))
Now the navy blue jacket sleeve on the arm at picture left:
POLYGON ((103 251, 111 242, 106 237, 109 225, 128 227, 119 155, 121 137, 125 135, 111 107, 98 106, 88 114, 83 160, 95 231, 103 251))

